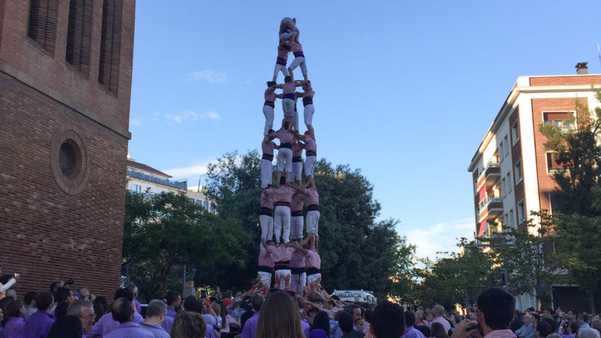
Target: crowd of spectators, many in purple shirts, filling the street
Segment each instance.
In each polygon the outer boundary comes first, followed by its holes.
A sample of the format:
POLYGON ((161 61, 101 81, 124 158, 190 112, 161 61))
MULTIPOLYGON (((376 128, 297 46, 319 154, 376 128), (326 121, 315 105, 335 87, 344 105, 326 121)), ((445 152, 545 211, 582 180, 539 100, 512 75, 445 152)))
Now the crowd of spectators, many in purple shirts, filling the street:
POLYGON ((135 286, 117 289, 109 302, 87 288, 74 292, 69 281, 22 298, 4 290, 0 338, 601 338, 599 316, 561 309, 520 312, 499 288, 484 290, 466 315, 441 305, 403 309, 387 301, 343 302, 319 289, 305 296, 251 289, 233 297, 219 290, 207 297, 199 290, 185 298, 169 291, 144 305, 137 292, 135 286))

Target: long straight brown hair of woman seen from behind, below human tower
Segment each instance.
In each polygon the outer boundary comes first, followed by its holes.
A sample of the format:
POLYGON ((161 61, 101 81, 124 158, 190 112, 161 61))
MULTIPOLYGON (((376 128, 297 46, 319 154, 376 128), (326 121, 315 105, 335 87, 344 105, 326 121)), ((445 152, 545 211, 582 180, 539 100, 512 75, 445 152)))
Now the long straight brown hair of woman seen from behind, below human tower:
POLYGON ((287 292, 276 291, 267 297, 261 307, 256 338, 305 338, 301 313, 287 292))

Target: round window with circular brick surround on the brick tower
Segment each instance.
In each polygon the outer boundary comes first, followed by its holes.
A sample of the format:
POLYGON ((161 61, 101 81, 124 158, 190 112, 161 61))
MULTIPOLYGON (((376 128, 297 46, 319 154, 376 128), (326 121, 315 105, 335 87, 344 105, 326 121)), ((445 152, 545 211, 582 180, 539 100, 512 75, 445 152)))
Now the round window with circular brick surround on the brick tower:
POLYGON ((77 194, 88 180, 88 158, 84 141, 77 132, 56 133, 50 146, 50 167, 58 186, 67 194, 77 194))

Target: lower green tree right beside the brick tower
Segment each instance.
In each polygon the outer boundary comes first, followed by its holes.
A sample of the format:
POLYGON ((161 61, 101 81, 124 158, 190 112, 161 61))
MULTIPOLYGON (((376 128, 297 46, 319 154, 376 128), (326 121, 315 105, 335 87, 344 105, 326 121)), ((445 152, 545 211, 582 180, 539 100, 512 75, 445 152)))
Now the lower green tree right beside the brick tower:
POLYGON ((237 245, 241 235, 236 223, 206 212, 185 195, 127 192, 123 257, 131 262, 132 281, 142 296, 164 295, 174 282, 182 287, 185 263, 199 268, 239 264, 245 259, 237 245))

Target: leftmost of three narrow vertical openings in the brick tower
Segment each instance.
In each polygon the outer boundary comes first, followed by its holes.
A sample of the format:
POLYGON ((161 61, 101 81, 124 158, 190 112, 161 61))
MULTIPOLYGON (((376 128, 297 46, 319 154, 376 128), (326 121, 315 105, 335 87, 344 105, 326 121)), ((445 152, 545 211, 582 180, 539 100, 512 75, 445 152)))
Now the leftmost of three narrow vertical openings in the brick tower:
POLYGON ((58 0, 29 1, 27 36, 50 54, 54 53, 57 14, 58 0))

